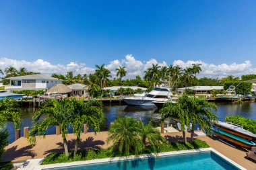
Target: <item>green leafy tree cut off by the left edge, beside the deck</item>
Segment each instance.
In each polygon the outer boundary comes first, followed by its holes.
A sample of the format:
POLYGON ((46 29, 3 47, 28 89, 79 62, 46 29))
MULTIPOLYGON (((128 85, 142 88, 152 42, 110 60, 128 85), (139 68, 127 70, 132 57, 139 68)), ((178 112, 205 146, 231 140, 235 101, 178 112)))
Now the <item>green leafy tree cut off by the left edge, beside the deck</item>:
POLYGON ((12 122, 15 128, 22 122, 19 107, 20 105, 13 99, 0 100, 0 159, 8 144, 7 122, 12 122))

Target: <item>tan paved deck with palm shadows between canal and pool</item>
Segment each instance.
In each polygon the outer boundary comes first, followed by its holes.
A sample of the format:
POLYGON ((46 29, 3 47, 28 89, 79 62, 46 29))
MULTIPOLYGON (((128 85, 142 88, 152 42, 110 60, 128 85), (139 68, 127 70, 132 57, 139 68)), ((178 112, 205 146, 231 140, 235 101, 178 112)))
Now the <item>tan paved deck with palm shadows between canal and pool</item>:
MULTIPOLYGON (((182 132, 171 132, 162 134, 168 141, 175 141, 177 139, 182 140, 182 132)), ((190 134, 187 132, 187 136, 190 134)), ((88 132, 81 135, 81 148, 107 148, 110 144, 106 143, 108 132, 88 132)), ((249 161, 245 158, 247 150, 243 148, 233 148, 223 142, 220 142, 218 138, 210 138, 207 136, 197 136, 209 144, 216 151, 222 153, 222 155, 228 157, 232 161, 245 167, 246 169, 256 169, 256 163, 249 161)), ((74 134, 68 134, 67 140, 69 142, 69 148, 73 148, 75 144, 74 134)), ((27 138, 19 138, 15 142, 5 147, 5 154, 2 161, 12 161, 13 163, 24 162, 28 159, 44 158, 51 153, 63 152, 62 138, 60 135, 47 135, 46 138, 36 137, 36 145, 31 146, 27 138)))

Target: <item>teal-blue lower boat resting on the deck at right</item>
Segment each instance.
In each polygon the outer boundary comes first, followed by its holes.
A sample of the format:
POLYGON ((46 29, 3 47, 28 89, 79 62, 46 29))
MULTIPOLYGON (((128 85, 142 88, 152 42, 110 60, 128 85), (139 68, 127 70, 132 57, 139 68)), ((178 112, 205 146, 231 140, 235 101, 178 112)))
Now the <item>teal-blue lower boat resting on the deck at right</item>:
POLYGON ((245 148, 251 148, 252 146, 256 146, 253 141, 247 140, 247 138, 243 138, 241 136, 236 136, 235 134, 231 134, 229 132, 221 130, 220 128, 213 127, 212 130, 214 131, 214 134, 216 134, 216 136, 220 136, 221 138, 224 138, 234 144, 238 144, 239 146, 243 146, 245 148))

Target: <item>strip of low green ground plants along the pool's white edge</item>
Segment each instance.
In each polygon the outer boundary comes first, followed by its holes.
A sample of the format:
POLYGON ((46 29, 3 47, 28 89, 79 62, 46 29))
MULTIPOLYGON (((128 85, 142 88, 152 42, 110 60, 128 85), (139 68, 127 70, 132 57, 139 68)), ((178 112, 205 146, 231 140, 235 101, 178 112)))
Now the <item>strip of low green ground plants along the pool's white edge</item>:
MULTIPOLYGON (((206 142, 202 140, 196 139, 193 140, 192 143, 187 142, 171 142, 171 143, 162 143, 159 145, 158 152, 170 152, 170 151, 183 151, 188 149, 196 149, 196 148, 208 148, 210 146, 207 145, 206 142)), ((155 153, 154 151, 150 151, 150 149, 145 150, 144 153, 155 153)), ((141 153, 143 154, 143 153, 141 153)), ((110 157, 121 157, 124 155, 120 155, 120 153, 116 153, 113 147, 110 148, 102 148, 100 150, 88 150, 88 151, 80 151, 73 156, 73 152, 69 153, 69 157, 66 157, 64 153, 53 153, 48 155, 44 161, 42 161, 41 165, 53 164, 53 163, 67 163, 73 161, 86 161, 92 159, 104 159, 110 157)))

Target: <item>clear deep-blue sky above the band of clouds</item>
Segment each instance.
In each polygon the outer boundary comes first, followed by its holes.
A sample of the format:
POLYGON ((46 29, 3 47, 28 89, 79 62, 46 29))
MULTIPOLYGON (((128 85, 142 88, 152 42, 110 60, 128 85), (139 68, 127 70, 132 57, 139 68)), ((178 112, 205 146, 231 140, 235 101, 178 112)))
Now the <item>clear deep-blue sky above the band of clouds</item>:
POLYGON ((0 58, 256 66, 256 1, 0 1, 0 58))

